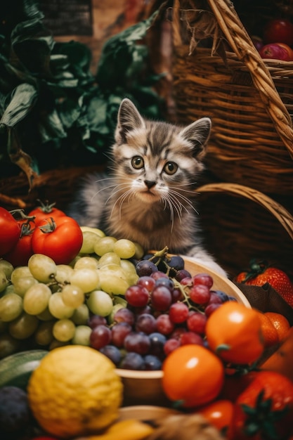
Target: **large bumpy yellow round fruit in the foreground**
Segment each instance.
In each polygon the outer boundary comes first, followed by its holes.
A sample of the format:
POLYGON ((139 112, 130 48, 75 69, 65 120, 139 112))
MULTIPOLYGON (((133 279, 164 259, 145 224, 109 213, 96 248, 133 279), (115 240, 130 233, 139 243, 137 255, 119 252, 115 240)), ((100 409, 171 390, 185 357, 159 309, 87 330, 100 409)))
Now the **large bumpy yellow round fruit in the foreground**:
POLYGON ((50 351, 27 387, 39 425, 65 439, 108 427, 117 419, 122 394, 122 380, 110 359, 81 345, 50 351))

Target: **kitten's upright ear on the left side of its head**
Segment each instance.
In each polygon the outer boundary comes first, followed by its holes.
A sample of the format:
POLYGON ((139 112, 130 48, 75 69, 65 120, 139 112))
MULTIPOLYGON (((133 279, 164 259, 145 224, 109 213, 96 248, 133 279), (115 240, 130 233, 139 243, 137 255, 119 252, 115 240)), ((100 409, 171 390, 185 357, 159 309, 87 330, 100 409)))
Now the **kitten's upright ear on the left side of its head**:
POLYGON ((125 98, 120 104, 117 117, 116 141, 125 141, 126 134, 134 129, 145 128, 145 122, 136 106, 125 98))

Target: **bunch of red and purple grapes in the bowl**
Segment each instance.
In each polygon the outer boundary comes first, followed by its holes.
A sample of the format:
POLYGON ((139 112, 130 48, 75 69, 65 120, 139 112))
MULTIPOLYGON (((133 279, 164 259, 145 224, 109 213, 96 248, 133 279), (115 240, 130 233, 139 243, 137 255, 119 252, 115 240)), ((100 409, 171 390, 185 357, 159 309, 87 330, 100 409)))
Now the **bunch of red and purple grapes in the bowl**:
POLYGON ((180 345, 205 345, 210 314, 235 300, 212 289, 209 273, 191 276, 177 255, 147 255, 136 264, 136 272, 136 285, 125 292, 127 306, 115 313, 112 325, 102 316, 89 318, 91 347, 117 368, 160 370, 164 358, 180 345))

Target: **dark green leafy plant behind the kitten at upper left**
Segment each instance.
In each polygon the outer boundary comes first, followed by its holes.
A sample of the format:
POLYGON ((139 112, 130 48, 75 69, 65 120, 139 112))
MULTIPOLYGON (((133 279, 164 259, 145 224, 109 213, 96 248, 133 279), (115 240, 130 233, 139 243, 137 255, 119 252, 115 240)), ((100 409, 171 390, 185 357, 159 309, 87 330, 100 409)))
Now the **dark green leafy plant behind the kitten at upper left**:
POLYGON ((144 42, 156 13, 106 41, 93 75, 89 47, 55 41, 37 1, 6 3, 0 11, 1 176, 22 169, 33 186, 46 169, 105 163, 122 98, 146 117, 162 117, 144 42))

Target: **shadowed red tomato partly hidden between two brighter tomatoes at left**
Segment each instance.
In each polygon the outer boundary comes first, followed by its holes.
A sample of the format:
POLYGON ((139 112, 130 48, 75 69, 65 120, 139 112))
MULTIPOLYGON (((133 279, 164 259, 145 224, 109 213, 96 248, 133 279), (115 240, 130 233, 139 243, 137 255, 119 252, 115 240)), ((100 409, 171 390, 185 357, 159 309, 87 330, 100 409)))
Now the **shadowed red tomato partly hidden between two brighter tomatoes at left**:
POLYGON ((16 245, 4 255, 4 258, 9 261, 13 267, 17 266, 27 266, 27 261, 29 261, 32 256, 32 233, 34 232, 34 222, 21 220, 18 221, 21 226, 20 238, 16 245))

